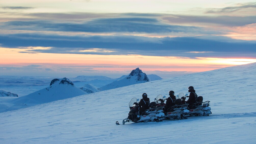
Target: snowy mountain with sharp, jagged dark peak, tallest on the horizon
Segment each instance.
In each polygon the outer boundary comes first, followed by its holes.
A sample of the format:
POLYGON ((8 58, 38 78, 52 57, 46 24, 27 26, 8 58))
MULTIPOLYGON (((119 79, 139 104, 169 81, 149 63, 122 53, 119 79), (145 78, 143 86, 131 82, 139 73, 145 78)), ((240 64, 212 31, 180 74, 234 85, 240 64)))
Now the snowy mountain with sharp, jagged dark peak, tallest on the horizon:
POLYGON ((149 82, 147 75, 142 72, 139 68, 136 68, 135 70, 132 70, 132 72, 129 75, 122 76, 116 81, 107 84, 105 86, 102 86, 99 88, 100 91, 104 90, 110 90, 113 88, 123 87, 127 85, 133 85, 138 83, 145 83, 149 82))

